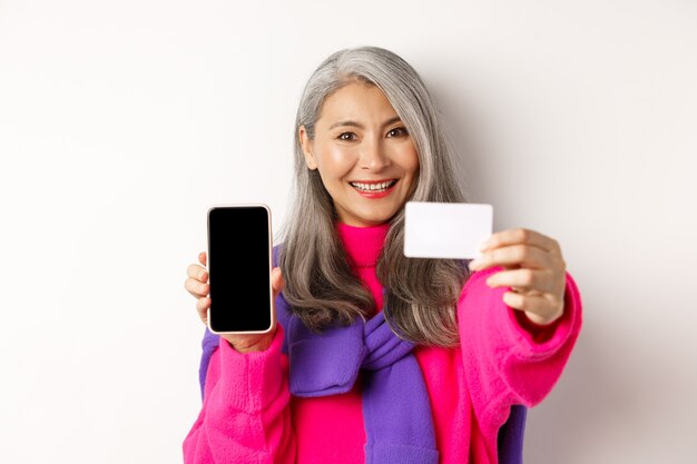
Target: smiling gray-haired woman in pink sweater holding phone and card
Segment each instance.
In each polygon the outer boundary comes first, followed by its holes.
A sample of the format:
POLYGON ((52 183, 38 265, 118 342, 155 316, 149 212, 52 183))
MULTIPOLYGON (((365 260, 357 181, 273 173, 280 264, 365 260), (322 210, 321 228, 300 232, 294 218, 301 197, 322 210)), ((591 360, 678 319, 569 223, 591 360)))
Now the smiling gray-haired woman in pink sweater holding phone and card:
MULTIPOLYGON (((404 256, 406 201, 464 201, 439 118, 382 48, 340 50, 310 77, 274 247, 278 323, 206 330, 186 463, 521 460, 526 407, 561 375, 581 300, 559 244, 534 230, 493 234, 470 263, 404 256)), ((205 322, 198 261, 185 287, 205 322)))

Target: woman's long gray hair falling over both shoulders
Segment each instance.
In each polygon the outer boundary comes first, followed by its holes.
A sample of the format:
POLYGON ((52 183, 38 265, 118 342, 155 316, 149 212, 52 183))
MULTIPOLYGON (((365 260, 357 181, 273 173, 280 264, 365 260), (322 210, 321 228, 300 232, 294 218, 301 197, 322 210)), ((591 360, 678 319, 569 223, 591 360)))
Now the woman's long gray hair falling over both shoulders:
MULTIPOLYGON (((316 333, 334 323, 372 316, 374 300, 353 273, 335 229, 334 204, 320 172, 305 164, 300 128, 311 140, 325 99, 352 82, 376 86, 411 135, 419 154, 416 186, 408 200, 462 203, 451 160, 454 145, 440 124, 433 96, 416 71, 379 47, 332 53, 305 86, 295 120, 294 196, 283 230, 278 263, 283 295, 305 325, 316 333)), ((389 219, 377 278, 386 288, 385 320, 401 338, 432 346, 459 343, 455 304, 469 277, 463 261, 404 256, 404 207, 389 219)))

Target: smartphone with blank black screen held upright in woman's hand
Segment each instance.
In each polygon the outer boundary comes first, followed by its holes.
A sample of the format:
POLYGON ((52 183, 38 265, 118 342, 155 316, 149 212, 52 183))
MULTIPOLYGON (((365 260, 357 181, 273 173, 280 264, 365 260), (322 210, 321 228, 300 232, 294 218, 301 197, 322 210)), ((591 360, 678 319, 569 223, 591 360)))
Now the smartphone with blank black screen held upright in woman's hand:
POLYGON ((274 320, 271 209, 216 205, 208 209, 208 328, 214 334, 264 334, 274 320))

